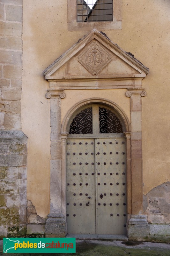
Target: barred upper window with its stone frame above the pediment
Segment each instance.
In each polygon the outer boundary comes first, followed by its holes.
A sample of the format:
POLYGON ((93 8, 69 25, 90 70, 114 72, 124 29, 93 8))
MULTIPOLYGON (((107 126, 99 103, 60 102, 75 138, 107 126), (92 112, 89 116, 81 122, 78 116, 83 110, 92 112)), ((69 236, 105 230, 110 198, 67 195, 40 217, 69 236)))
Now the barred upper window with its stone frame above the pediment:
POLYGON ((122 29, 122 0, 67 0, 69 31, 122 29))

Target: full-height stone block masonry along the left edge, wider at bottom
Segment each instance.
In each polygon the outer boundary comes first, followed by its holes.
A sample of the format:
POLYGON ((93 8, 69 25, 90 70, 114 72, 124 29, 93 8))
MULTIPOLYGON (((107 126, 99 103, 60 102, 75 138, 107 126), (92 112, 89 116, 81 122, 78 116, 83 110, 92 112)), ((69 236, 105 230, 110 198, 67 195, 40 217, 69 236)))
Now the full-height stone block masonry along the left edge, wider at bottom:
POLYGON ((0 237, 26 233, 27 137, 21 131, 22 0, 0 1, 0 237))

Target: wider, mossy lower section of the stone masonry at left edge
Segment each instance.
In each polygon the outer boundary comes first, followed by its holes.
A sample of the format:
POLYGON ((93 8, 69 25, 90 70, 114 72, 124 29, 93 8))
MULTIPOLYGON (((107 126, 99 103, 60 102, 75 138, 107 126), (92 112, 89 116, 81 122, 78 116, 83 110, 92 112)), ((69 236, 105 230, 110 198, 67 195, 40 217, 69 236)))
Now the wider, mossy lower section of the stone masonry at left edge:
POLYGON ((0 131, 0 237, 26 234, 27 137, 0 131))

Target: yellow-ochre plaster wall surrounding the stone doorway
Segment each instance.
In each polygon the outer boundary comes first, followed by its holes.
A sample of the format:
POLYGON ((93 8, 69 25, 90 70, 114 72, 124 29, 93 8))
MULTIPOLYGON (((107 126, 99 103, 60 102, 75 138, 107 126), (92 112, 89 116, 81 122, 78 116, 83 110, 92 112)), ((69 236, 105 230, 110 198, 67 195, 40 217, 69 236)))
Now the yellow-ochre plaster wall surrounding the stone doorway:
MULTIPOLYGON (((122 4, 122 30, 103 30, 123 50, 132 52, 146 67, 142 98, 144 194, 170 180, 169 172, 169 0, 126 0, 122 4)), ((23 0, 22 131, 28 136, 27 199, 41 217, 49 213, 50 100, 42 71, 89 31, 67 30, 67 0, 23 0)), ((125 90, 113 95, 90 91, 92 97, 115 101, 129 117, 125 90), (100 96, 98 96, 100 97, 100 96)), ((62 117, 87 91, 66 91, 62 117), (68 102, 66 104, 65 102, 68 102)))

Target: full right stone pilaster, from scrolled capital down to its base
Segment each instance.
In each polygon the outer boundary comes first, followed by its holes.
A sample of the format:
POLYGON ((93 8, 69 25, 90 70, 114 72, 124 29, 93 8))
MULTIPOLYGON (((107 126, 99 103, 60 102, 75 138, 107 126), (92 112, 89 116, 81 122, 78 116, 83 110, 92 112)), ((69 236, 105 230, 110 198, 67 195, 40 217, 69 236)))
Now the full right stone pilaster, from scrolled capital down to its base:
MULTIPOLYGON (((142 101, 146 96, 143 88, 128 89, 131 113, 131 211, 128 205, 128 238, 132 241, 149 240, 149 224, 143 213, 142 173, 142 101)), ((128 139, 127 139, 128 145, 128 139)), ((128 147, 128 146, 127 146, 128 147)), ((128 148, 127 148, 128 152, 128 148)), ((128 154, 128 153, 127 153, 128 154)), ((127 155, 128 158, 128 155, 127 155)), ((128 161, 128 159, 127 159, 128 161)), ((127 164, 128 166, 128 164, 127 164)), ((130 175, 129 175, 130 178, 130 175)), ((130 189, 130 188, 129 188, 130 189)), ((129 191, 130 193, 130 191, 129 191)))

